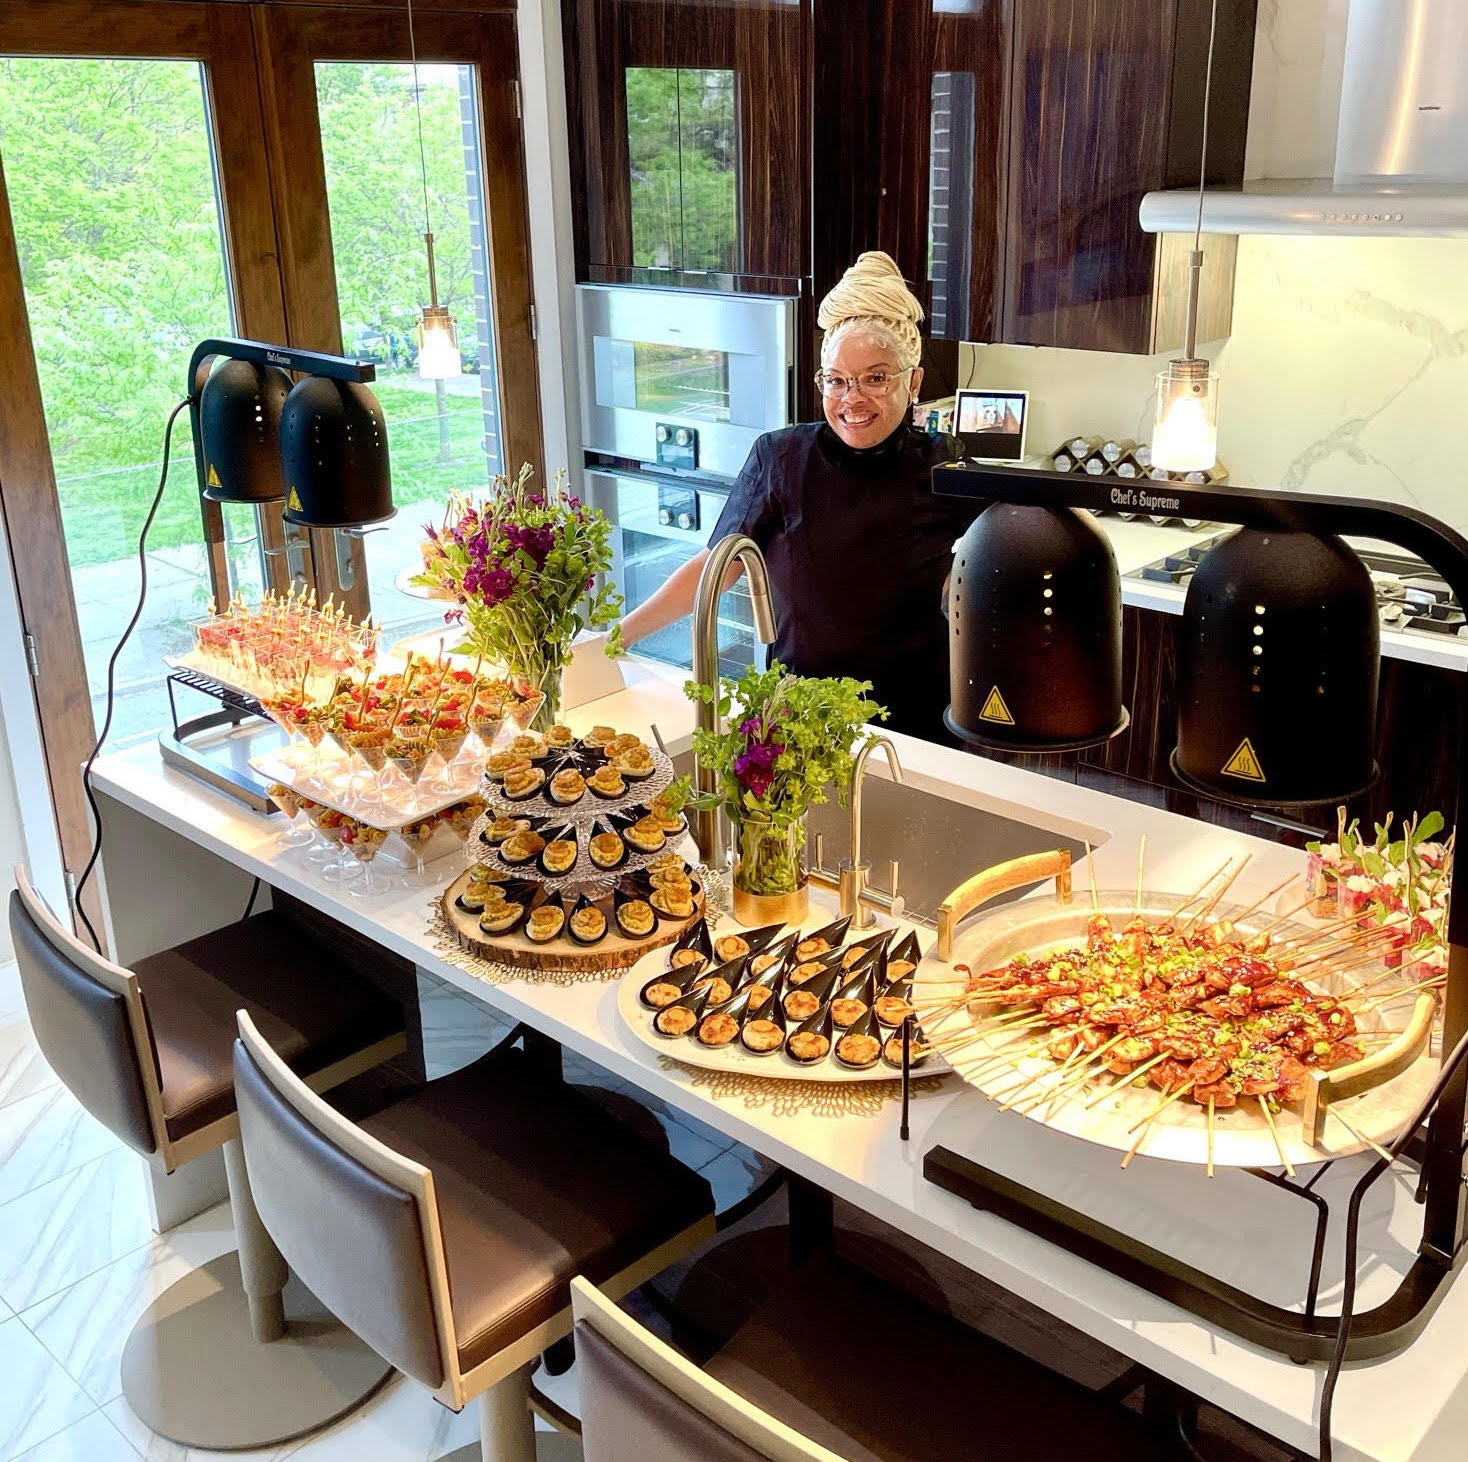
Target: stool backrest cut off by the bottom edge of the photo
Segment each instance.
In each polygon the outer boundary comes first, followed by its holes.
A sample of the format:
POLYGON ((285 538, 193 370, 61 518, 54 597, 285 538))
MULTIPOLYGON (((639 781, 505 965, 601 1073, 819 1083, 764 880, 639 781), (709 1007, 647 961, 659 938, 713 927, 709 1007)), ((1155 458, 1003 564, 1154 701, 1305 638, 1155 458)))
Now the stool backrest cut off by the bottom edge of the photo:
POLYGON ((571 1280, 586 1462, 843 1462, 571 1280))

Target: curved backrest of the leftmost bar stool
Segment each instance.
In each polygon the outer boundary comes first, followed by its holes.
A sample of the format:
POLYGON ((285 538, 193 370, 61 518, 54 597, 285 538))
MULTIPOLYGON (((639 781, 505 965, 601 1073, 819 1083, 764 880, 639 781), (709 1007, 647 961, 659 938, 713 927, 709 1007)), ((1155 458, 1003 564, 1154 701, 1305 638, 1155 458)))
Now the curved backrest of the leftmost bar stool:
POLYGON ((163 1104, 138 979, 63 928, 15 870, 10 938, 35 1044, 70 1094, 117 1139, 163 1146, 163 1104))

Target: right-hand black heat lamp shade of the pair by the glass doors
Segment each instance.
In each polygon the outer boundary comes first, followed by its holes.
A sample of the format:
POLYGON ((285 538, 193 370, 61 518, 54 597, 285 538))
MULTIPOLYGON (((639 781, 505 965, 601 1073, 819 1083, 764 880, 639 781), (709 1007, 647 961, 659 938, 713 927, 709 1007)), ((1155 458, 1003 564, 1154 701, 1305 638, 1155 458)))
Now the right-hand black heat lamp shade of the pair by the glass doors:
POLYGON ((308 528, 383 523, 392 505, 388 423, 360 382, 307 376, 280 412, 285 520, 308 528))

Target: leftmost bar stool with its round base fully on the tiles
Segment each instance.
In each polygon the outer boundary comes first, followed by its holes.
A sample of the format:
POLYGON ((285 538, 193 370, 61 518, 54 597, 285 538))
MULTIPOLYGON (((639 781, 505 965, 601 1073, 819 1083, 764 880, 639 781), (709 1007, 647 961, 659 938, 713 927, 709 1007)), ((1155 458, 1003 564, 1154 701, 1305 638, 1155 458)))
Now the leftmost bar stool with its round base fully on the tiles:
POLYGON ((113 1135, 172 1173, 225 1149, 238 1254, 170 1286, 122 1356, 128 1405, 192 1447, 275 1446, 357 1406, 390 1368, 291 1280, 239 1148, 230 1050, 245 1005, 313 1088, 407 1047, 401 1008, 266 912, 123 969, 65 929, 23 869, 10 934, 41 1054, 113 1135))

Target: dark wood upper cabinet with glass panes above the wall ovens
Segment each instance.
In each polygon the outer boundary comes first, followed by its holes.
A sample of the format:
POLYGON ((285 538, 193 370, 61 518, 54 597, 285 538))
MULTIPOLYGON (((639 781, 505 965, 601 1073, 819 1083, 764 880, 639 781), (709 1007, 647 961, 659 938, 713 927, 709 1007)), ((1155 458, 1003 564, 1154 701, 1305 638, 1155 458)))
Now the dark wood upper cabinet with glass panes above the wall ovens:
POLYGON ((809 273, 809 0, 564 0, 584 279, 809 273))

